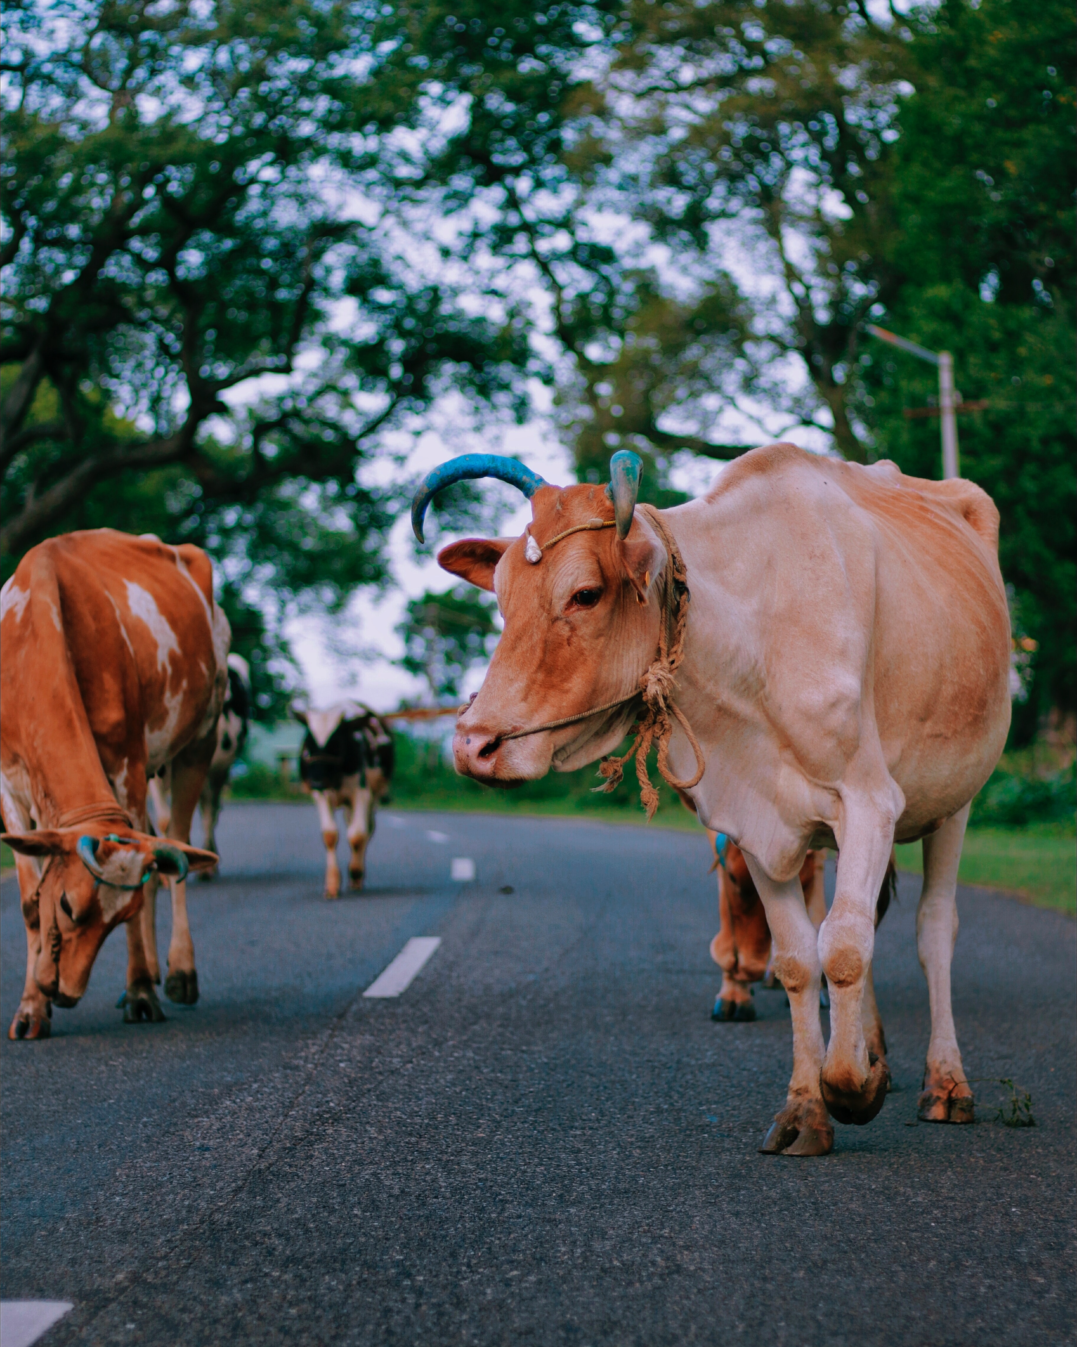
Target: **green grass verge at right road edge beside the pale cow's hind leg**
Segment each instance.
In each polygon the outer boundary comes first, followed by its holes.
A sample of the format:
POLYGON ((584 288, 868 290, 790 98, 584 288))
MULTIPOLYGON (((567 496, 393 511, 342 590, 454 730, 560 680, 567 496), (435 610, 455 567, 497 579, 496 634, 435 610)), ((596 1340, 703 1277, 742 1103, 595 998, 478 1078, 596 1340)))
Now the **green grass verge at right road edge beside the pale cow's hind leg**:
MULTIPOLYGON (((898 847, 898 869, 922 874, 918 842, 898 847)), ((1077 915, 1077 838, 1072 824, 969 828, 959 878, 1019 893, 1041 908, 1077 915)))

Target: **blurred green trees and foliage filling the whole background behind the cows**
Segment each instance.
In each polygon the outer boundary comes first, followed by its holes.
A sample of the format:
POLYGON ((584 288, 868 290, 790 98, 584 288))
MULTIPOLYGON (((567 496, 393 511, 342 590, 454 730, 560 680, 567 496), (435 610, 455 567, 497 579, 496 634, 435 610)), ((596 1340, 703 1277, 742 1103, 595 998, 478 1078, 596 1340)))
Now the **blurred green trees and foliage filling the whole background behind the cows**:
MULTIPOLYGON (((1029 659, 976 820, 1072 824, 1070 5, 53 0, 4 26, 4 575, 71 528, 199 543, 273 722, 281 614, 392 583, 436 409, 482 432, 545 385, 579 478, 629 446, 661 505, 685 455, 782 436, 937 478, 934 372, 880 323, 954 353, 963 473, 1002 512, 1029 659)), ((493 616, 425 594, 401 636, 458 696, 493 616)), ((405 784, 408 752, 401 797, 471 800, 421 740, 405 784)), ((610 808, 584 775, 513 801, 610 808)))

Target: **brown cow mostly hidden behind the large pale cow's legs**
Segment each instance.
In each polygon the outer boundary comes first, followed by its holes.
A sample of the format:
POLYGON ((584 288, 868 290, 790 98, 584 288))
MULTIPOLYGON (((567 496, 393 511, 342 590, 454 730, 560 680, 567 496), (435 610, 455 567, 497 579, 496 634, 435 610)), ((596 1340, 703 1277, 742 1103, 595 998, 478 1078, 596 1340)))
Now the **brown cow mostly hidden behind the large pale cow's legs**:
MULTIPOLYGON (((753 884, 744 853, 723 832, 707 828, 707 836, 715 849, 715 869, 718 870, 719 931, 711 940, 711 958, 722 968, 722 990, 718 993, 711 1018, 751 1021, 755 1018, 755 1006, 751 1004, 751 983, 763 981, 770 986, 775 985, 770 927, 759 893, 753 884)), ((804 905, 816 931, 827 916, 825 870, 827 853, 809 851, 798 876, 804 890, 804 905)), ((879 890, 879 900, 875 904, 876 931, 890 907, 897 882, 897 861, 891 853, 890 865, 879 890)), ((825 991, 821 995, 821 1004, 829 1004, 825 991)), ((875 981, 871 968, 868 968, 864 982, 863 1026, 868 1052, 884 1064, 886 1036, 875 1002, 875 981)))

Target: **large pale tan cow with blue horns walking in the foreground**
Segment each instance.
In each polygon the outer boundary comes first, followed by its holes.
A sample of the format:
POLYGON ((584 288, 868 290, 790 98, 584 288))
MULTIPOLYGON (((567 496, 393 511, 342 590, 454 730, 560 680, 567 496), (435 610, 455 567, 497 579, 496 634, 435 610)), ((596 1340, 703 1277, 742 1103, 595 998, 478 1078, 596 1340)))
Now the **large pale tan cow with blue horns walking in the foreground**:
MULTIPOLYGON (((995 505, 967 481, 921 481, 793 445, 744 454, 704 497, 668 511, 635 506, 635 455, 614 455, 611 473, 609 490, 560 489, 514 461, 468 455, 435 469, 416 494, 420 536, 433 492, 464 477, 501 477, 532 501, 524 537, 466 539, 439 555, 493 590, 505 618, 456 722, 458 770, 508 784, 611 753, 639 709, 621 699, 658 668, 680 556, 691 603, 672 698, 704 766, 687 793, 744 853, 792 1009, 793 1076, 763 1149, 825 1153, 828 1111, 863 1123, 884 1102, 887 1072, 868 1052, 862 1008, 895 841, 924 839, 917 931, 932 1037, 919 1115, 971 1121, 950 959, 969 801, 1010 725, 995 505), (840 858, 816 932, 798 876, 820 846, 840 858)), ((658 684, 645 686, 653 696, 658 684)), ((695 764, 676 723, 668 768, 691 781, 695 764)))

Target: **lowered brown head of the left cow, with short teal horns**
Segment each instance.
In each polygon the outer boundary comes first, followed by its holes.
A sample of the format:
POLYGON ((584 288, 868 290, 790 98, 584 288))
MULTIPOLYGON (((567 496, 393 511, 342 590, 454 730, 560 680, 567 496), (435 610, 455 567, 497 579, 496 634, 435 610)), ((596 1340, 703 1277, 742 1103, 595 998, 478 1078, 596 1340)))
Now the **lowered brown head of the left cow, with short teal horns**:
POLYGON ((32 900, 42 933, 34 979, 61 1006, 82 997, 105 936, 139 911, 151 872, 182 880, 188 869, 206 870, 218 859, 213 851, 129 828, 38 828, 5 832, 3 841, 42 866, 32 900))

